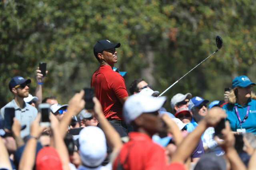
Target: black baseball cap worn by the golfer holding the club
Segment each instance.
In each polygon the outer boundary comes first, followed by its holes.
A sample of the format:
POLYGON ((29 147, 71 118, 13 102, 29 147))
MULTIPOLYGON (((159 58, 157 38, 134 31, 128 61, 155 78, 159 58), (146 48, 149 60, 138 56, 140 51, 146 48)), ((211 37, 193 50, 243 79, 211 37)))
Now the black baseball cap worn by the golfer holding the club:
POLYGON ((94 53, 94 56, 97 57, 98 53, 101 53, 104 50, 118 48, 120 46, 121 46, 120 43, 113 44, 107 39, 102 39, 100 41, 97 41, 97 43, 94 45, 93 53, 94 53))

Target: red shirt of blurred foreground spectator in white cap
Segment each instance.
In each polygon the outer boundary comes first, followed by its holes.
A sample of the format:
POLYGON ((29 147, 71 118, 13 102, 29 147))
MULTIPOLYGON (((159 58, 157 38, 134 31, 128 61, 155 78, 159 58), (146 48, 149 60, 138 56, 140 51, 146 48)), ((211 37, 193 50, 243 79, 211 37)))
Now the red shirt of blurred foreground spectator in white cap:
POLYGON ((122 165, 124 170, 186 170, 184 164, 167 164, 164 148, 140 132, 130 132, 130 140, 125 143, 114 160, 113 170, 122 165), (118 163, 119 162, 119 163, 118 163))

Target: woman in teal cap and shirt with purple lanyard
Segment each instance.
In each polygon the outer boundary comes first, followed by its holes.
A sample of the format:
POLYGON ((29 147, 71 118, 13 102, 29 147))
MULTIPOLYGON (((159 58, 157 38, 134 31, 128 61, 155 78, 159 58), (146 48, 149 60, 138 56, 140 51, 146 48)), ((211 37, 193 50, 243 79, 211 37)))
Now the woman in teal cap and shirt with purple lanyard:
POLYGON ((256 134, 256 96, 252 92, 255 85, 247 76, 238 76, 232 81, 228 104, 222 107, 232 131, 256 134))

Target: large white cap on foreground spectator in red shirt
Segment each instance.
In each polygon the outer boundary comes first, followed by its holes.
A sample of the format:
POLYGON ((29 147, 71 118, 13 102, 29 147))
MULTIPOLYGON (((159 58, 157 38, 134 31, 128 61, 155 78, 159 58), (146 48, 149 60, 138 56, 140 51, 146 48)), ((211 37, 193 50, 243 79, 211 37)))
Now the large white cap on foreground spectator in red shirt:
POLYGON ((158 111, 164 105, 166 96, 154 98, 152 96, 132 95, 124 102, 123 114, 126 123, 130 123, 142 113, 158 111))

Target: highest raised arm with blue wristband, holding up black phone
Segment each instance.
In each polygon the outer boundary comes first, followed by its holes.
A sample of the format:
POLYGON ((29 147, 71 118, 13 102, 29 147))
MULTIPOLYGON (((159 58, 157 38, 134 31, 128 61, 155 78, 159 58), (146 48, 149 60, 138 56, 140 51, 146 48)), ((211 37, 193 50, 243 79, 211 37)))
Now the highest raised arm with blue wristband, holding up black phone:
MULTIPOLYGON (((48 71, 46 71, 46 74, 48 71)), ((38 101, 36 102, 36 108, 38 109, 38 105, 42 103, 42 83, 44 83, 45 76, 43 77, 43 74, 41 74, 41 70, 39 70, 39 67, 36 70, 36 91, 35 96, 38 98, 38 101), (40 84, 39 84, 40 83, 40 84)))

